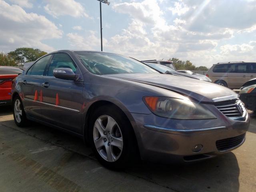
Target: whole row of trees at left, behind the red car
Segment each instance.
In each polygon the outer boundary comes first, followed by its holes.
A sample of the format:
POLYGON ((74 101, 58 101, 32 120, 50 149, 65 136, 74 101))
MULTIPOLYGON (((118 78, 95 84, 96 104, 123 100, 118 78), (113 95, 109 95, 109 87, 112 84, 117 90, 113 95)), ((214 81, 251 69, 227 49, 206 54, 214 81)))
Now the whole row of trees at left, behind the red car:
POLYGON ((35 61, 47 54, 45 51, 34 48, 17 48, 8 53, 0 53, 0 65, 2 66, 22 66, 25 62, 35 61))

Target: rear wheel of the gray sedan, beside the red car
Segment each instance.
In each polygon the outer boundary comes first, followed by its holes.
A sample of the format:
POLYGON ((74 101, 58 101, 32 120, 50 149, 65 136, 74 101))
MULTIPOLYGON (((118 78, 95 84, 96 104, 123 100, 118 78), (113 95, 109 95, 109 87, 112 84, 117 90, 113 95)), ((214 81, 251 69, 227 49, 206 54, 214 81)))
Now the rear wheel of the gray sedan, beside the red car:
POLYGON ((24 127, 28 125, 28 120, 19 96, 15 96, 12 103, 12 112, 14 117, 14 122, 19 127, 24 127))

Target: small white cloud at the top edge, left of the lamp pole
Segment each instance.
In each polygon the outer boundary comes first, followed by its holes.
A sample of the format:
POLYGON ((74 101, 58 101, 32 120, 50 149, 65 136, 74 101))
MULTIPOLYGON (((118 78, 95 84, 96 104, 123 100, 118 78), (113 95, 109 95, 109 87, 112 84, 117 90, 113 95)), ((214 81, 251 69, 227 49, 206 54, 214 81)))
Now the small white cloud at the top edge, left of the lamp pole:
POLYGON ((45 0, 44 10, 53 17, 69 15, 72 17, 89 17, 84 7, 75 0, 45 0))

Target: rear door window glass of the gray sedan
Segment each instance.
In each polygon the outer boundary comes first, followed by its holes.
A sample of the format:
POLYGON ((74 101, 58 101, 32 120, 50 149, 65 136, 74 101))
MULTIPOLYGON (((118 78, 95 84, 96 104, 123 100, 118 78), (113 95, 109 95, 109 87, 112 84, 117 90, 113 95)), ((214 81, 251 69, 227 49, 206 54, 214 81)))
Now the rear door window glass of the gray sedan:
POLYGON ((52 55, 45 56, 38 60, 27 72, 27 75, 44 75, 44 69, 52 55))

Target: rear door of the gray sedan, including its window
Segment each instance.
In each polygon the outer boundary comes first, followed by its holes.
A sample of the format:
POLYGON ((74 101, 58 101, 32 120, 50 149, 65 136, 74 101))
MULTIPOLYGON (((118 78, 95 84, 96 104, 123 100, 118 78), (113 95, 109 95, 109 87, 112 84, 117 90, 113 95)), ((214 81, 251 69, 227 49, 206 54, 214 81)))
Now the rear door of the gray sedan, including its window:
POLYGON ((21 94, 26 115, 41 118, 40 90, 44 70, 52 55, 45 56, 34 63, 22 78, 21 94))

